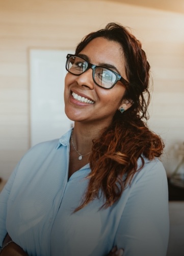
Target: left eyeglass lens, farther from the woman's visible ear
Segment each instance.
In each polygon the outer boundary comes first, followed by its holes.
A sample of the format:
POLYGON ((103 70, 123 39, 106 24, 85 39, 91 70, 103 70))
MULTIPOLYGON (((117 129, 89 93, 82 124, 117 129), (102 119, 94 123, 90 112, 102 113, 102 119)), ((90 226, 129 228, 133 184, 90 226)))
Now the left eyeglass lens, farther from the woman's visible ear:
POLYGON ((77 56, 69 57, 66 63, 67 71, 69 71, 74 75, 82 74, 83 72, 86 71, 87 68, 88 68, 88 63, 84 59, 77 56))

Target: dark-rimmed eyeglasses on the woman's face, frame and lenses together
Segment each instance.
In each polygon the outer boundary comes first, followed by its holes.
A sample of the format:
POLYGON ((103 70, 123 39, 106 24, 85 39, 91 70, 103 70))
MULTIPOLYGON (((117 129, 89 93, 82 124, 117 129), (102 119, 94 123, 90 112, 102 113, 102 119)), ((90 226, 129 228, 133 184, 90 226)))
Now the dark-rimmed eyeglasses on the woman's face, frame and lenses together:
POLYGON ((121 81, 124 86, 127 86, 129 84, 118 73, 108 68, 93 65, 82 57, 68 54, 66 58, 66 70, 69 73, 80 76, 91 68, 93 70, 93 81, 99 87, 102 87, 104 89, 111 89, 115 86, 117 81, 121 81))

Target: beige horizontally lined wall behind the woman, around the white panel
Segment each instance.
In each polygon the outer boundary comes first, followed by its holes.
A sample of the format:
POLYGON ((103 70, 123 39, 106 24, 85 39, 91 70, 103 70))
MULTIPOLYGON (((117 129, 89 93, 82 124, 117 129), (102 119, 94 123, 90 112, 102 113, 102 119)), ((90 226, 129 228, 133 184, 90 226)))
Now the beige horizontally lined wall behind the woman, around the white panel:
POLYGON ((110 1, 0 0, 0 176, 30 147, 29 49, 74 49, 108 22, 131 27, 154 80, 150 127, 166 142, 168 175, 184 141, 184 15, 110 1))

